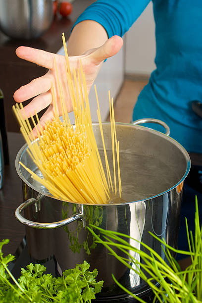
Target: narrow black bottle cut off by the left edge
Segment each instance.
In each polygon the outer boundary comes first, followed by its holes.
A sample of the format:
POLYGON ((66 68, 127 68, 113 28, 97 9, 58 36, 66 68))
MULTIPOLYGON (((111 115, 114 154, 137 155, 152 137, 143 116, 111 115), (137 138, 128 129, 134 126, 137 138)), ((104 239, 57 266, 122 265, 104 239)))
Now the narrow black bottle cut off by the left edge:
POLYGON ((3 92, 0 89, 0 134, 3 148, 3 159, 4 164, 9 164, 9 154, 8 154, 8 141, 7 133, 5 127, 5 114, 4 114, 4 103, 3 103, 3 92))

